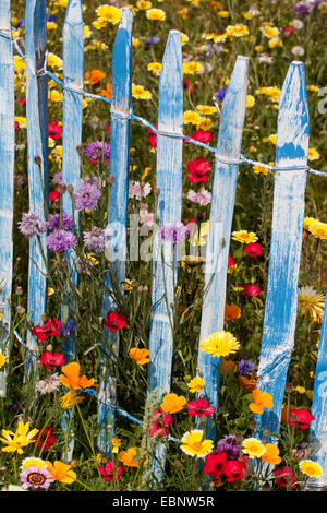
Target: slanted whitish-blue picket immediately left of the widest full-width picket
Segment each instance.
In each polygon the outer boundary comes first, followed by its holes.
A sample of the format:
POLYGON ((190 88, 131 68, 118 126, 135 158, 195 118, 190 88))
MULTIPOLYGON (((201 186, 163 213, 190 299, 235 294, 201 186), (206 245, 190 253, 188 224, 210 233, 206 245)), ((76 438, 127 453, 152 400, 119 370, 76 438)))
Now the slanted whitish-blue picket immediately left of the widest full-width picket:
MULTIPOLYGON (((238 57, 222 104, 219 126, 218 155, 231 160, 240 157, 247 91, 249 58, 238 57)), ((230 232, 234 210, 239 166, 227 165, 216 159, 209 218, 209 235, 206 250, 205 294, 202 311, 202 341, 216 331, 223 330, 226 282, 230 232)), ((206 382, 207 398, 218 406, 219 359, 199 349, 199 374, 206 382)), ((207 436, 215 429, 207 422, 207 436)))

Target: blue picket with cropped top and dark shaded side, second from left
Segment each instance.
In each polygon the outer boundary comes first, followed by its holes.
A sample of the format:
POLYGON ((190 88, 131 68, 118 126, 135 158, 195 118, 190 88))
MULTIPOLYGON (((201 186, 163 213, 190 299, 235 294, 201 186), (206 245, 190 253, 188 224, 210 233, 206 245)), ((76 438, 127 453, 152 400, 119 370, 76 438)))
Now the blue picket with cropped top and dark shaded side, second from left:
MULTIPOLYGON (((48 202, 48 79, 41 70, 47 49, 46 0, 29 0, 26 3, 25 49, 29 210, 45 219, 43 187, 46 202, 48 202), (40 157, 40 171, 35 163, 36 156, 40 157)), ((40 237, 46 254, 45 239, 45 235, 40 237)), ((41 315, 46 310, 47 277, 45 276, 46 265, 35 238, 31 239, 29 243, 28 265, 28 320, 33 324, 41 324, 41 315)), ((27 334, 27 346, 35 348, 35 341, 31 333, 27 334)), ((26 358, 27 374, 29 374, 33 372, 35 359, 29 354, 26 358)))

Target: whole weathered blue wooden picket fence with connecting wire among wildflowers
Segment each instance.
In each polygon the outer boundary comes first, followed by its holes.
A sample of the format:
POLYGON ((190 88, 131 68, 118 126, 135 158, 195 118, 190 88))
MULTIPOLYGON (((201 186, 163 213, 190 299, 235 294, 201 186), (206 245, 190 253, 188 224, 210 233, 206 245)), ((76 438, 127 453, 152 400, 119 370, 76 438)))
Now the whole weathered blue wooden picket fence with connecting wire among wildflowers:
MULTIPOLYGON (((182 207, 182 157, 183 141, 192 142, 215 154, 215 175, 211 191, 210 226, 215 230, 208 237, 207 254, 213 259, 205 264, 206 290, 203 298, 203 314, 199 339, 223 330, 228 255, 231 225, 234 210, 238 171, 240 165, 261 165, 275 174, 274 213, 269 275, 264 319, 264 333, 258 367, 258 389, 274 397, 274 408, 256 417, 257 437, 263 430, 276 432, 279 429, 287 371, 294 345, 294 330, 298 309, 298 278, 300 271, 301 243, 304 217, 304 193, 307 174, 326 177, 327 174, 307 166, 308 115, 305 70, 302 62, 290 64, 283 83, 278 111, 277 147, 275 166, 255 163, 241 153, 243 123, 245 117, 249 59, 238 57, 220 116, 217 147, 191 140, 183 134, 183 73, 181 36, 171 31, 159 82, 158 128, 137 117, 132 109, 132 25, 133 13, 122 10, 122 17, 112 52, 112 100, 83 91, 84 33, 81 0, 69 0, 63 27, 63 80, 47 70, 47 10, 46 0, 29 0, 25 13, 24 55, 11 37, 10 0, 0 0, 0 279, 3 318, 1 346, 9 357, 8 331, 10 330, 10 306, 5 300, 11 296, 13 265, 13 174, 14 174, 14 50, 26 62, 26 117, 29 210, 40 218, 46 217, 48 205, 44 204, 41 182, 46 196, 48 187, 48 77, 63 88, 63 151, 62 180, 78 187, 81 168, 76 146, 82 142, 82 98, 88 96, 111 105, 111 147, 109 174, 114 177, 108 210, 108 225, 120 228, 117 247, 120 254, 126 254, 126 213, 130 169, 130 128, 136 121, 150 128, 158 135, 156 184, 159 188, 157 216, 159 225, 180 223, 182 207), (40 157, 36 160, 35 157, 40 157), (219 294, 217 294, 219 291, 219 294)), ((71 212, 68 193, 63 196, 63 208, 71 212)), ((78 226, 78 219, 76 218, 78 226)), ((47 253, 45 238, 43 251, 47 253)), ((160 240, 154 244, 152 324, 149 334, 149 387, 159 387, 160 395, 169 392, 173 355, 172 315, 169 310, 175 297, 174 284, 177 265, 165 265, 159 254, 164 252, 171 261, 171 246, 160 240), (164 293, 166 300, 162 300, 164 293)), ((70 252, 69 265, 74 273, 74 254, 70 252)), ((164 261, 165 262, 165 261, 164 261)), ((125 279, 125 260, 114 262, 118 283, 125 279)), ((109 274, 106 285, 110 287, 109 274)), ((122 294, 124 293, 122 287, 122 294)), ((34 324, 40 324, 47 303, 47 278, 40 249, 32 240, 28 270, 28 312, 34 324)), ((70 315, 69 300, 66 312, 70 315)), ((114 310, 112 297, 105 294, 102 313, 114 310)), ((313 486, 327 486, 327 312, 325 309, 320 332, 316 379, 312 411, 315 421, 311 428, 311 441, 315 442, 313 458, 324 474, 313 486)), ((119 357, 119 335, 105 332, 106 343, 119 357)), ((19 333, 15 335, 26 349, 26 377, 33 377, 36 365, 36 342, 28 333, 26 343, 19 333)), ((71 334, 66 342, 65 357, 70 361, 76 356, 76 339, 71 334)), ((219 369, 211 365, 211 357, 198 354, 199 373, 206 381, 210 404, 218 406, 219 369)), ((5 371, 0 372, 0 393, 5 395, 5 371)), ((116 381, 106 361, 100 363, 98 397, 99 450, 109 451, 110 432, 116 413, 140 422, 116 404, 116 381)), ((65 429, 69 414, 63 420, 65 429)), ((207 434, 215 436, 213 426, 207 434)), ((272 442, 276 440, 272 439, 272 442)), ((277 442, 276 442, 277 443, 277 442)), ((73 443, 70 446, 73 453, 73 443)), ((158 450, 157 474, 162 473, 165 449, 158 450)))

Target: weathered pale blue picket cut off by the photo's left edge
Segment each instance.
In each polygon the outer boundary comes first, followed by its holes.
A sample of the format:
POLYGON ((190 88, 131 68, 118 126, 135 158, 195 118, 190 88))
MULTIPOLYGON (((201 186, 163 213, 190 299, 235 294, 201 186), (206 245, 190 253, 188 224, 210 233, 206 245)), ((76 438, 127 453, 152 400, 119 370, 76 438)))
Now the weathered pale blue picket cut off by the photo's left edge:
MULTIPOLYGON (((0 0, 0 31, 11 34, 10 0, 0 0)), ((0 350, 9 358, 10 301, 13 259, 14 68, 12 41, 0 37, 0 350)), ((0 371, 0 396, 5 396, 5 370, 0 371)))

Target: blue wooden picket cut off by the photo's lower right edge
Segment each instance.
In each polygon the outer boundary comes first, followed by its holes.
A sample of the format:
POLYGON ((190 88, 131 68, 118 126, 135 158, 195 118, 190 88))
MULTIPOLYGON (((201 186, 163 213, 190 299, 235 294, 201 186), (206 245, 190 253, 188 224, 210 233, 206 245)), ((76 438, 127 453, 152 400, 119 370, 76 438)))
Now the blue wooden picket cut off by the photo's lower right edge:
MULTIPOLYGON (((327 290, 326 290, 327 297, 327 290)), ((325 303, 324 319, 315 373, 314 396, 311 408, 315 417, 310 428, 310 445, 314 446, 311 460, 323 468, 323 475, 308 480, 312 488, 327 486, 327 308, 325 303)))

